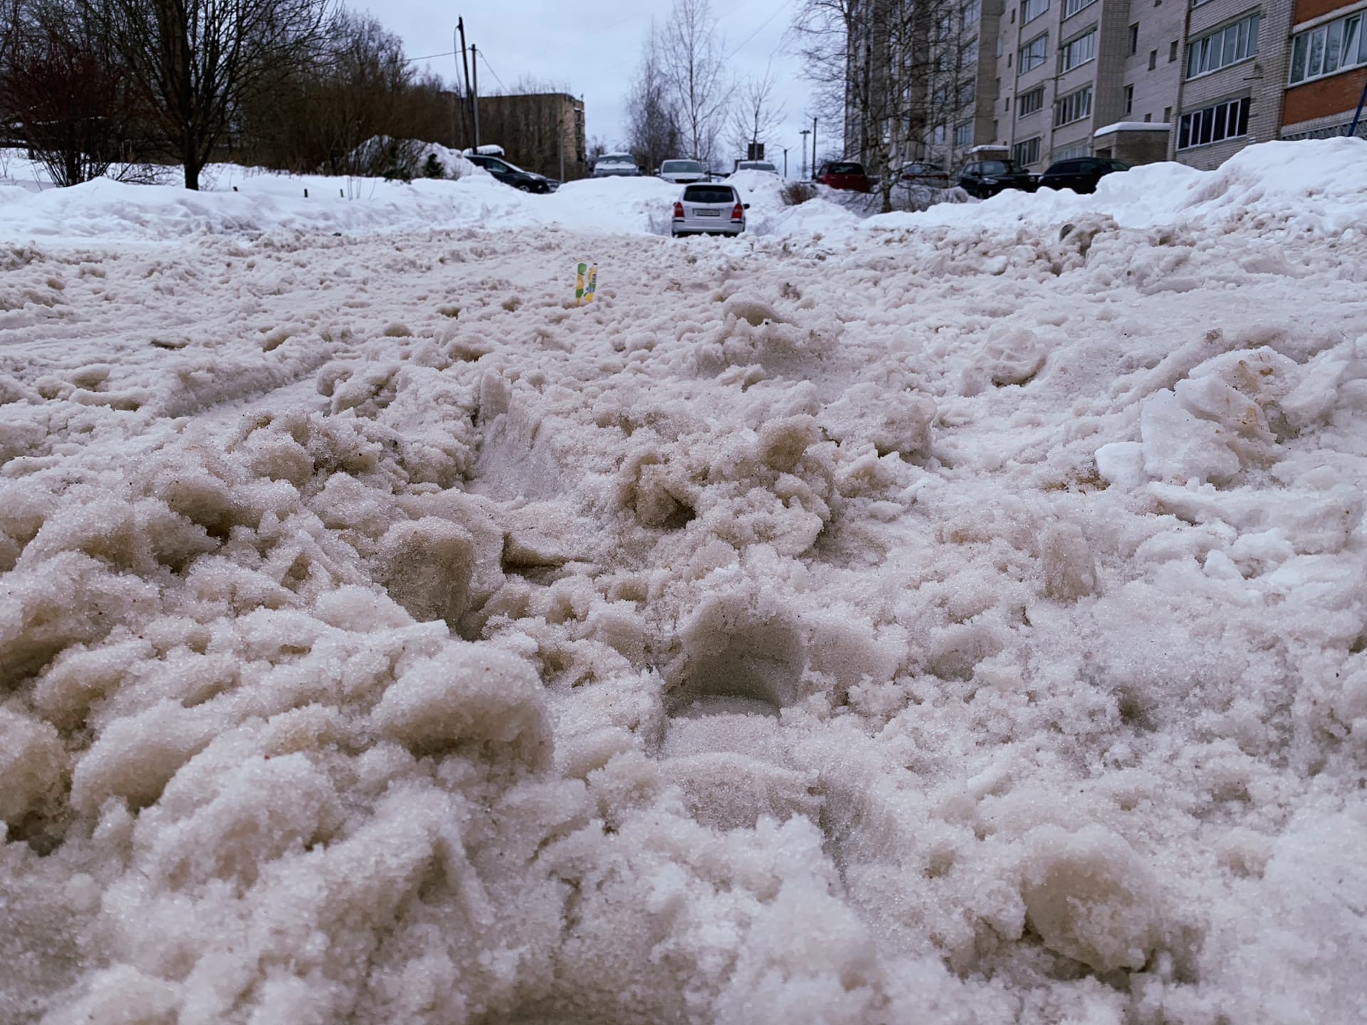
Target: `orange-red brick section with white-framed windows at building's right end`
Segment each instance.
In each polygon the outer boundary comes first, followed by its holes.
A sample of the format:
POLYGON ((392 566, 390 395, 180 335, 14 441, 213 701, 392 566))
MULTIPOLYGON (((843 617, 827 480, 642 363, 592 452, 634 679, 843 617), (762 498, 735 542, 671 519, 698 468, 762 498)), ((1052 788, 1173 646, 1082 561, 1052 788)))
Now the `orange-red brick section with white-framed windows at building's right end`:
MULTIPOLYGON (((1281 138, 1346 133, 1367 87, 1364 19, 1363 0, 1296 0, 1281 138)), ((1357 134, 1367 134, 1367 124, 1357 134)))

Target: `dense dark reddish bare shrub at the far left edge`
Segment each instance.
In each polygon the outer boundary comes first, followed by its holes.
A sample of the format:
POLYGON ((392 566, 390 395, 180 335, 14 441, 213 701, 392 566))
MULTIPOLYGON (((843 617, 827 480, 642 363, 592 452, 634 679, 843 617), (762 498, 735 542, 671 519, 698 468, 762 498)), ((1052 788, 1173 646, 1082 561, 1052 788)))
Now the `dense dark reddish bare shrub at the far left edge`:
POLYGON ((137 108, 126 68, 68 0, 11 8, 0 109, 59 186, 104 175, 134 156, 137 108))

